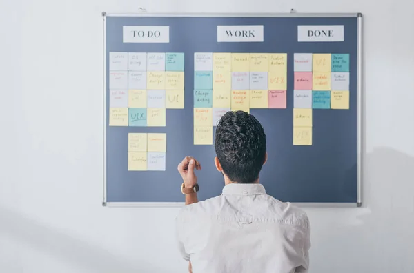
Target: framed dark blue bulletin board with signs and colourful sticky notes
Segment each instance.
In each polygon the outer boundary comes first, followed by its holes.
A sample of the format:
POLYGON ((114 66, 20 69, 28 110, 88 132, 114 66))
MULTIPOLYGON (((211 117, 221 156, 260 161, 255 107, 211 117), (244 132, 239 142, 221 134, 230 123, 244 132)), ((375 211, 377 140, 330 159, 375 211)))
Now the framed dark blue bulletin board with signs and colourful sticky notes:
POLYGON ((185 156, 199 200, 220 195, 215 125, 236 110, 265 130, 268 194, 362 204, 361 14, 103 13, 103 32, 103 205, 183 205, 185 156))

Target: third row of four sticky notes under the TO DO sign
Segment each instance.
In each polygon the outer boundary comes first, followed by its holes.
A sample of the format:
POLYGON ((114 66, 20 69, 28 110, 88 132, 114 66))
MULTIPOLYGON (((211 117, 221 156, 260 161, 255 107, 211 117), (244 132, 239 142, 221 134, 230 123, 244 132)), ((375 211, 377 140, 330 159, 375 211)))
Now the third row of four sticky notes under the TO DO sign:
POLYGON ((184 90, 110 90, 110 108, 184 108, 184 90))

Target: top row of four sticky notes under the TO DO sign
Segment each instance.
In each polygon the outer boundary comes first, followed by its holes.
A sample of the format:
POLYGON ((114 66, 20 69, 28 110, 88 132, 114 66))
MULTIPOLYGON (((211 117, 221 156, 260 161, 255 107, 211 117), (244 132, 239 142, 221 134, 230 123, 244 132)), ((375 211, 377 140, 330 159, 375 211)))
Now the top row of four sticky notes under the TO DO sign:
POLYGON ((109 52, 110 71, 184 71, 184 53, 109 52))

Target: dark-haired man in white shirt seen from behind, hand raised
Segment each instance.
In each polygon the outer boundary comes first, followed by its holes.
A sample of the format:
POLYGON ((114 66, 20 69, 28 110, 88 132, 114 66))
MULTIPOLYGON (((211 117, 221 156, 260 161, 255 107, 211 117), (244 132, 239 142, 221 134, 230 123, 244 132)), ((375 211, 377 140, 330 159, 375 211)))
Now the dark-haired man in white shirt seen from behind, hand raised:
POLYGON ((196 159, 188 156, 178 165, 186 207, 177 216, 177 239, 190 272, 308 272, 306 213, 267 195, 259 183, 267 159, 259 121, 242 111, 224 114, 217 125, 215 152, 225 183, 215 198, 197 203, 195 170, 201 164, 196 159))

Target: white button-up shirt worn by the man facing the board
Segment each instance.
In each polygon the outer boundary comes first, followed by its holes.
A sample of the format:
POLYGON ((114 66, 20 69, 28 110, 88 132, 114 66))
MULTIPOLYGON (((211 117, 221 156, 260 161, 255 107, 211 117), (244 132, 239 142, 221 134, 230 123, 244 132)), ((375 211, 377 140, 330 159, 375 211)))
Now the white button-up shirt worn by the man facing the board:
POLYGON ((261 184, 229 184, 177 216, 181 255, 194 273, 308 272, 306 213, 266 194, 261 184))

